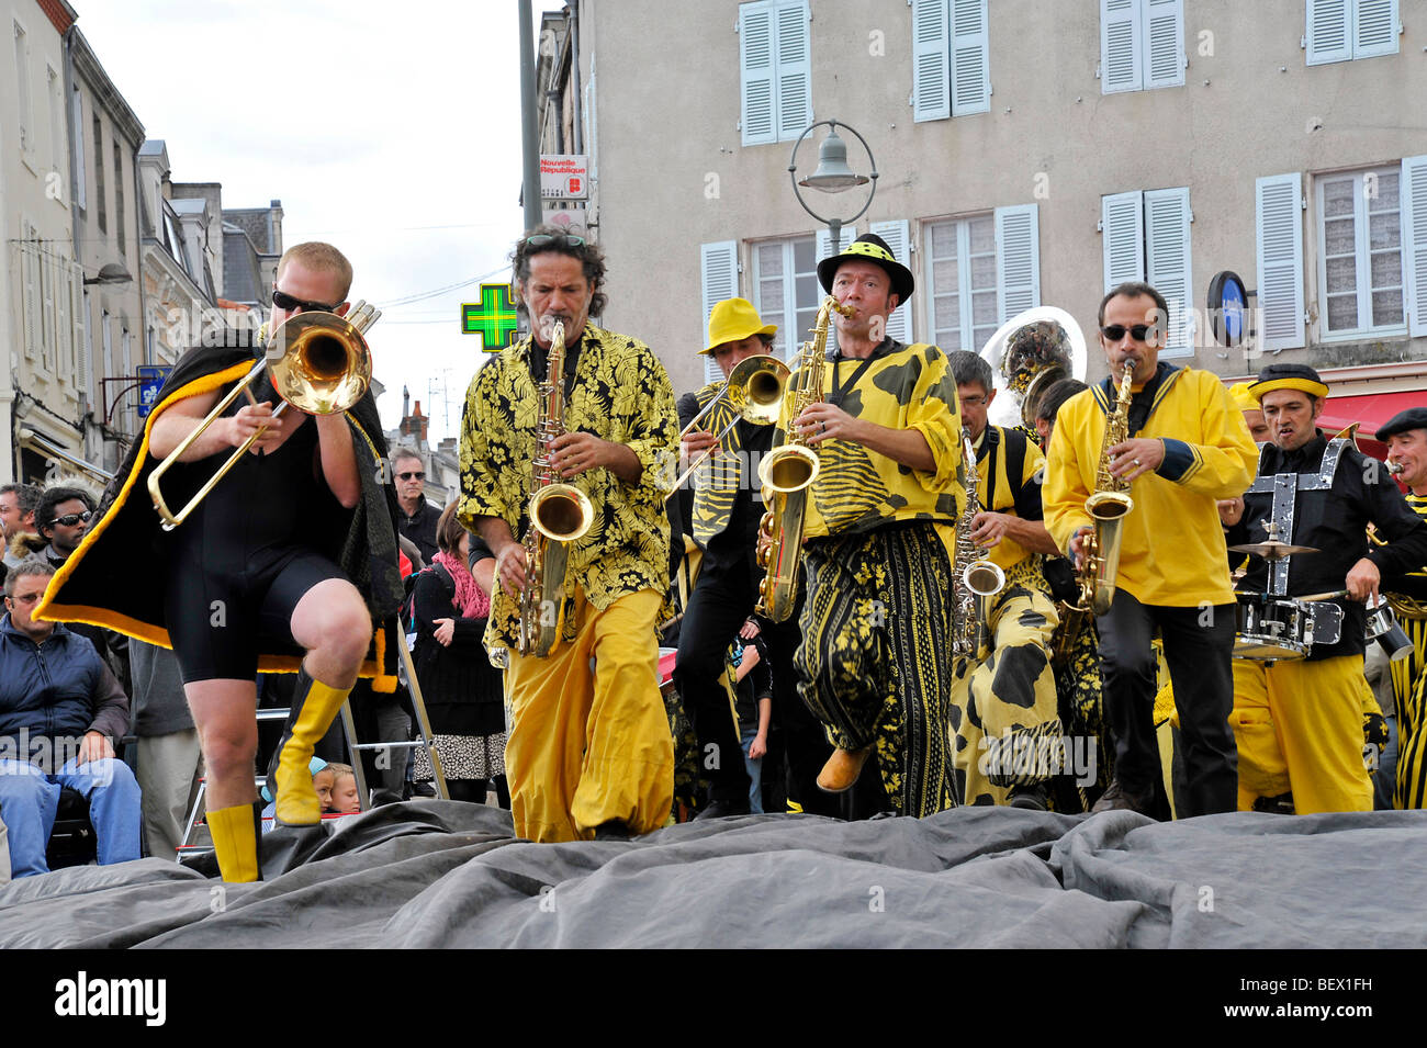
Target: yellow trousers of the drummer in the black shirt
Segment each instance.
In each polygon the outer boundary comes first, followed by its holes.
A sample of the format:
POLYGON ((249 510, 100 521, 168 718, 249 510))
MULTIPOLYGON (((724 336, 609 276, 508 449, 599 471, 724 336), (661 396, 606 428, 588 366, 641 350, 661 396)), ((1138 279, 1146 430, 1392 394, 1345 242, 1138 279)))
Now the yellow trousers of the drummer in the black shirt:
POLYGON ((1371 811, 1363 763, 1363 711, 1376 707, 1363 656, 1264 666, 1234 659, 1239 808, 1293 791, 1300 816, 1371 811))

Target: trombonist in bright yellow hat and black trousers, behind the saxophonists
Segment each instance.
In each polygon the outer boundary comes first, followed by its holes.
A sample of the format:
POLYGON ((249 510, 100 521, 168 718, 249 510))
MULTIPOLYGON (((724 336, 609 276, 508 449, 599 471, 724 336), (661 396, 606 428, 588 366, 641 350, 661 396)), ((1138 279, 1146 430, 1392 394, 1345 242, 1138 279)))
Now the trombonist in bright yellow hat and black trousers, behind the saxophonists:
MULTIPOLYGON (((699 422, 702 429, 684 438, 682 459, 692 463, 719 449, 695 473, 692 533, 704 556, 679 629, 679 657, 674 667, 674 684, 694 726, 708 786, 708 807, 698 818, 742 816, 751 808, 749 774, 738 756, 739 731, 733 727, 723 670, 729 646, 753 612, 763 577, 756 560, 758 525, 765 510, 758 463, 772 448, 775 426, 739 419, 728 429, 738 411, 725 389, 735 366, 772 351, 776 331, 776 325, 763 324, 748 299, 718 302, 709 312, 708 345, 699 354, 714 358, 723 382, 685 394, 678 404, 681 429, 714 405, 699 422), (716 438, 725 429, 728 433, 719 442, 716 438)), ((796 694, 792 657, 801 640, 798 625, 763 622, 761 629, 773 676, 773 713, 788 756, 788 796, 802 811, 836 814, 836 803, 813 788, 831 747, 796 694)))

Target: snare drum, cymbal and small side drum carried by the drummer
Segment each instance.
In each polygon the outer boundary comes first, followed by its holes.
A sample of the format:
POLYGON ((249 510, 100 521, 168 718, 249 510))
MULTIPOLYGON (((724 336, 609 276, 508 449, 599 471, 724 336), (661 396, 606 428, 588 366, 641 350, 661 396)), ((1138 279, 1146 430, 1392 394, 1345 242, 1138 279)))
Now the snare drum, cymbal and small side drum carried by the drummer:
MULTIPOLYGON (((1230 546, 1234 553, 1251 553, 1273 565, 1296 553, 1317 553, 1317 546, 1293 546, 1279 539, 1274 522, 1266 525, 1269 538, 1263 542, 1230 546)), ((1273 593, 1237 593, 1239 623, 1234 636, 1234 659, 1273 663, 1304 659, 1313 644, 1336 644, 1343 636, 1343 609, 1331 600, 1347 596, 1347 590, 1313 593, 1304 597, 1284 597, 1273 593)), ((1368 605, 1367 642, 1377 640, 1393 660, 1406 657, 1411 640, 1384 599, 1368 605)))

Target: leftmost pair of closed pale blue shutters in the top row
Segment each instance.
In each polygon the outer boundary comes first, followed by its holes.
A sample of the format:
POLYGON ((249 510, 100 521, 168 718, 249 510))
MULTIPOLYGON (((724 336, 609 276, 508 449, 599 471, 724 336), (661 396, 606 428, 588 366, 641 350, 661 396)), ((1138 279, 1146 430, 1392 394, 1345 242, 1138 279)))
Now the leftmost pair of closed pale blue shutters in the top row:
POLYGON ((808 0, 739 4, 743 145, 792 141, 812 123, 808 0))

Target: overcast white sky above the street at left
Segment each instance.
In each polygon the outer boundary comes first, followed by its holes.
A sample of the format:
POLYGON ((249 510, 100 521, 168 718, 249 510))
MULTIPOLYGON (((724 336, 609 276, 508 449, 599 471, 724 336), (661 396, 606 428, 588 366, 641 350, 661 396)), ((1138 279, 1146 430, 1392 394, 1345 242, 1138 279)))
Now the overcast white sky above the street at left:
MULTIPOLYGON (((221 183, 228 208, 281 200, 288 245, 351 258, 352 299, 385 311, 370 335, 382 425, 407 385, 431 442, 454 436, 479 344, 459 305, 477 278, 508 278, 522 225, 515 0, 71 4, 174 181, 221 183)), ((561 6, 534 0, 537 26, 561 6)))

